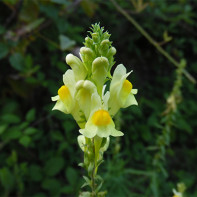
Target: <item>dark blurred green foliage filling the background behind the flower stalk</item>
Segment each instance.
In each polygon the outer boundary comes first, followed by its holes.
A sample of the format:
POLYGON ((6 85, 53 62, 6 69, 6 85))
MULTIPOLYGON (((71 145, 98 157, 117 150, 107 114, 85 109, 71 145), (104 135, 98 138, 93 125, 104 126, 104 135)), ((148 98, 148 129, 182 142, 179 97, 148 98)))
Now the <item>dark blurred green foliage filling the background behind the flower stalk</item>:
MULTIPOLYGON (((197 78, 196 1, 116 2, 197 78)), ((0 11, 0 196, 78 195, 78 128, 69 115, 51 111, 50 97, 68 69, 66 54, 78 53, 95 22, 112 34, 116 65, 134 70, 129 80, 139 90, 139 106, 116 117, 125 136, 112 140, 100 169, 108 196, 172 196, 178 182, 185 196, 197 196, 196 85, 111 1, 1 0, 0 11)))

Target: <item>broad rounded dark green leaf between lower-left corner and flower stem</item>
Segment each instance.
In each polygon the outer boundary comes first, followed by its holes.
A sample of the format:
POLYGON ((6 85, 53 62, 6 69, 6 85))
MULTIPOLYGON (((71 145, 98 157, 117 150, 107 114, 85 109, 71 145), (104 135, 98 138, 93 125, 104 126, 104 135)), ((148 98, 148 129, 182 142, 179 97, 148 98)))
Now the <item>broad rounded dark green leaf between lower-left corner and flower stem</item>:
POLYGON ((64 159, 62 157, 54 157, 46 162, 44 171, 48 176, 55 176, 64 167, 64 159))

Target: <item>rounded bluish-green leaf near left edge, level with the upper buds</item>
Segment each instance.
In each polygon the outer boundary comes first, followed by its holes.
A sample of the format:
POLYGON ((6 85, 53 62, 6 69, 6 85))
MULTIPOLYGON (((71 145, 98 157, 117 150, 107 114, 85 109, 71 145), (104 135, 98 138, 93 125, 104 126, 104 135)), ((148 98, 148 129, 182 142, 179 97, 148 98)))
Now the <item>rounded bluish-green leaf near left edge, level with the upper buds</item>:
POLYGON ((25 62, 21 53, 14 53, 11 55, 9 62, 11 66, 18 71, 22 71, 24 69, 25 62))

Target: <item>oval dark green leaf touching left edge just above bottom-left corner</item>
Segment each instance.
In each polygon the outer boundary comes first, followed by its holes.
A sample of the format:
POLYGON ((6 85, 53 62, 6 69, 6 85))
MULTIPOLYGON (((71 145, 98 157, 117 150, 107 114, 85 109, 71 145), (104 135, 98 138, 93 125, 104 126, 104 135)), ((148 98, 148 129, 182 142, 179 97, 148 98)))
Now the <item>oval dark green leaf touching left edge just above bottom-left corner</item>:
POLYGON ((0 180, 6 191, 10 191, 14 186, 14 176, 6 167, 0 169, 0 180))

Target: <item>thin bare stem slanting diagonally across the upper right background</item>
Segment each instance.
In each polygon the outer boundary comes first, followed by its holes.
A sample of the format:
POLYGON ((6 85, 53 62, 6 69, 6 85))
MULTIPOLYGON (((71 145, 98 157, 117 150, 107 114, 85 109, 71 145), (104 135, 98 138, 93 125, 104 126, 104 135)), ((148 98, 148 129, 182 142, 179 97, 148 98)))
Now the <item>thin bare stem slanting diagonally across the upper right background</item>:
MULTIPOLYGON (((156 42, 141 26, 138 24, 134 18, 127 14, 114 0, 110 0, 116 9, 125 16, 134 26, 135 28, 163 55, 165 56, 172 64, 176 67, 180 66, 180 63, 177 62, 170 54, 168 54, 159 44, 156 42)), ((184 75, 194 84, 196 84, 196 79, 187 71, 183 70, 184 75)))

